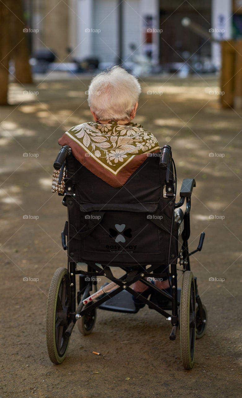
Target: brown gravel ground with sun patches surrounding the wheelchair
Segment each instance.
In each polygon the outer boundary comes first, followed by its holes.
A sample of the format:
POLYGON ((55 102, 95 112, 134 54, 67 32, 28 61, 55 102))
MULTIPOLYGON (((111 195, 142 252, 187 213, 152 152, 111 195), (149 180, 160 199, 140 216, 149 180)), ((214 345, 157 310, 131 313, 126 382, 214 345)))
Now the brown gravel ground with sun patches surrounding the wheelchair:
POLYGON ((194 368, 182 367, 179 333, 170 341, 171 325, 147 307, 133 315, 98 310, 93 333, 83 337, 75 327, 65 361, 50 362, 48 289, 54 271, 67 264, 60 241, 66 209, 50 191, 52 164, 63 132, 91 120, 89 81, 79 79, 12 83, 11 105, 1 108, 0 397, 240 397, 242 112, 220 109, 218 96, 209 94, 218 90, 213 77, 145 79, 134 119, 161 145, 171 144, 179 187, 183 178, 196 178, 190 249, 202 231, 206 237, 191 268, 208 326, 196 341, 194 368))

